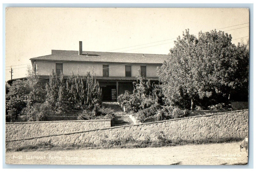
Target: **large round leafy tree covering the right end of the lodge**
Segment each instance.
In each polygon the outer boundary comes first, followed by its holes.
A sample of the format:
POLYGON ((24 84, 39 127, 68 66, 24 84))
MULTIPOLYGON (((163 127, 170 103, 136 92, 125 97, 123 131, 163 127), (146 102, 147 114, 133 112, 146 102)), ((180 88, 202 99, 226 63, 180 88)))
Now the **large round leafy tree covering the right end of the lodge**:
POLYGON ((198 38, 186 30, 182 38, 177 38, 158 70, 170 104, 184 107, 190 101, 194 110, 195 103, 204 98, 218 94, 228 99, 230 90, 248 78, 244 69, 249 65, 245 60, 249 51, 247 54, 244 47, 236 47, 231 40, 231 35, 216 30, 199 32, 198 38))

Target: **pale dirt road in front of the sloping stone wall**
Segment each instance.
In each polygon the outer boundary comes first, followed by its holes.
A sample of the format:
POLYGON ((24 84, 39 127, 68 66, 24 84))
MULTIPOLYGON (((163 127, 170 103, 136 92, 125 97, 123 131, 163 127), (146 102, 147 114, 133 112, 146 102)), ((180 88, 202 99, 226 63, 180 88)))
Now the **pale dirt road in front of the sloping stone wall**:
POLYGON ((236 165, 248 154, 240 142, 134 149, 78 149, 7 152, 6 164, 236 165))

